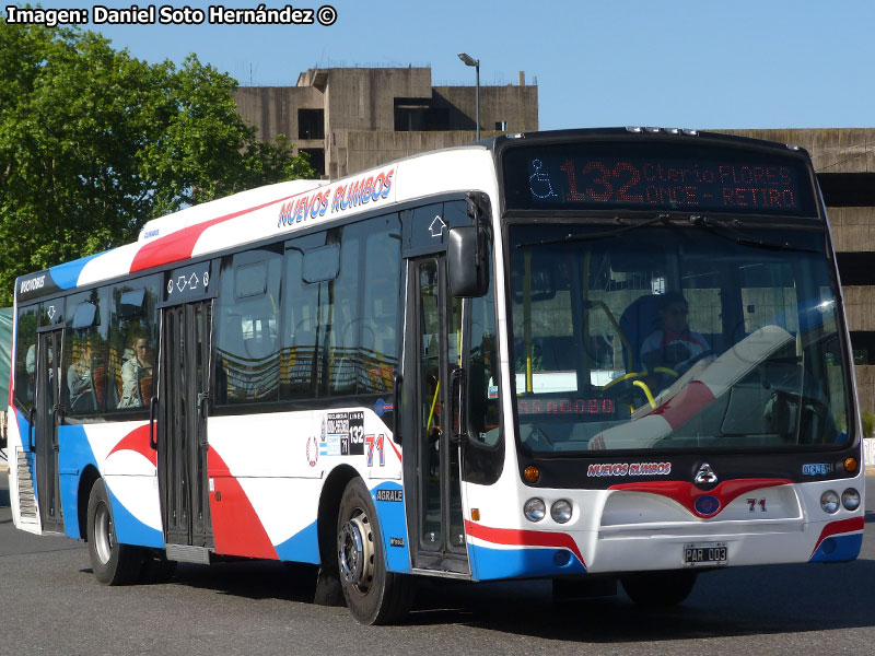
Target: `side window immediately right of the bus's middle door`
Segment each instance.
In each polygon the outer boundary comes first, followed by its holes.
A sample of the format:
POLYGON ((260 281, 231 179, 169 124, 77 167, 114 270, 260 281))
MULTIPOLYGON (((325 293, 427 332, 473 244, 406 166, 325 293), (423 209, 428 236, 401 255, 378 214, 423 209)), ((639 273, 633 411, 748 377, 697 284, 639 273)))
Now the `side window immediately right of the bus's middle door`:
POLYGON ((280 384, 279 248, 225 257, 215 313, 219 403, 276 401, 280 384))

